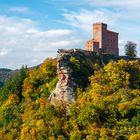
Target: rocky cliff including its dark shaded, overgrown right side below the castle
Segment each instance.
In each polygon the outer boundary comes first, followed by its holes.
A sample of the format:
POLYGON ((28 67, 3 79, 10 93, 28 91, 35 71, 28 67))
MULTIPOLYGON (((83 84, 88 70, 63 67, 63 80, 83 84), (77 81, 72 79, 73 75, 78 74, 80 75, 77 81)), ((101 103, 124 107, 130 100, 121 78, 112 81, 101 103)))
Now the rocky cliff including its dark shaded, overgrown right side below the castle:
POLYGON ((88 77, 94 71, 93 64, 99 63, 99 56, 94 52, 84 50, 59 50, 57 62, 58 83, 49 100, 52 104, 61 101, 74 102, 76 100, 75 89, 83 88, 83 85, 88 84, 88 77), (78 69, 71 58, 78 62, 78 69))

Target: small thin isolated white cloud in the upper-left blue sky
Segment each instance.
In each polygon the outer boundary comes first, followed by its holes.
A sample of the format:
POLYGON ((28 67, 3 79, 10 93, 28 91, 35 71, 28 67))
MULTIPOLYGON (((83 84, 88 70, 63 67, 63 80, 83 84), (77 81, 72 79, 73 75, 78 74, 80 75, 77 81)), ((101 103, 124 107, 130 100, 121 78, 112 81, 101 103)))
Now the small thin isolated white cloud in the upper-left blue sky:
POLYGON ((17 12, 17 13, 28 13, 30 10, 28 7, 10 7, 9 12, 17 12))

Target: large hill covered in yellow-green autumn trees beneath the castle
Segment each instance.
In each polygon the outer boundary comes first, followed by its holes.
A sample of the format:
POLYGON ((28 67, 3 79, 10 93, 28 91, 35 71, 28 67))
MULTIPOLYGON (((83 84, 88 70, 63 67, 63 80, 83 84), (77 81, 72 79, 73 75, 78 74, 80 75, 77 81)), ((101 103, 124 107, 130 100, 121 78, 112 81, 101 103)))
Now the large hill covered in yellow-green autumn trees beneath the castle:
POLYGON ((0 90, 0 139, 57 138, 139 140, 139 61, 60 51, 59 59, 22 67, 7 80, 0 90), (57 99, 74 87, 74 102, 52 104, 49 97, 58 87, 63 90, 57 99))

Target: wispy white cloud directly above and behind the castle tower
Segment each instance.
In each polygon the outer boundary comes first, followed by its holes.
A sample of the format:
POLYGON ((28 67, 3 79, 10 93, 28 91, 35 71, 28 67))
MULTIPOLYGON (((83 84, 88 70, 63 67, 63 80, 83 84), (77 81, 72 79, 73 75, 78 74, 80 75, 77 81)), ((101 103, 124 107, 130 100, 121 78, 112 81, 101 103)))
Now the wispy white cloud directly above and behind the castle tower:
POLYGON ((109 10, 85 10, 81 9, 78 12, 64 11, 63 16, 67 20, 66 24, 81 28, 82 30, 91 30, 91 25, 96 22, 104 22, 108 24, 114 23, 119 18, 119 14, 109 10))

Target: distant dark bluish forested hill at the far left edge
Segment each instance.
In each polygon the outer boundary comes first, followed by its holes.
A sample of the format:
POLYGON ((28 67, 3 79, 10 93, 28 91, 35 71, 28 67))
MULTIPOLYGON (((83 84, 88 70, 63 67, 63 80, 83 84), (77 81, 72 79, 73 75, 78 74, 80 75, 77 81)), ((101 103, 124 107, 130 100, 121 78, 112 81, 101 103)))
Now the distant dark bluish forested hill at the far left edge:
POLYGON ((0 68, 0 88, 3 86, 6 79, 9 78, 10 74, 12 73, 12 70, 0 68))

